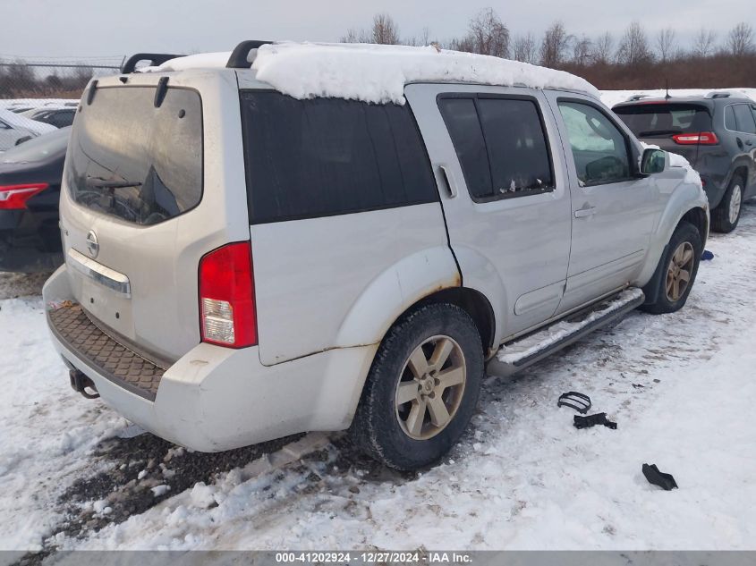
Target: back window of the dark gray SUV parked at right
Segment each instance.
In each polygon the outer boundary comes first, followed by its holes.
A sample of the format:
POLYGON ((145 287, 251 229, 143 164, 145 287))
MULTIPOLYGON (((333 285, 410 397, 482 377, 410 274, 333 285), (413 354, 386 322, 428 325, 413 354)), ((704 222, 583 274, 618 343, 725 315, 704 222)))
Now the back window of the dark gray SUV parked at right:
POLYGON ((664 138, 678 133, 711 131, 706 106, 693 104, 639 104, 615 108, 638 138, 664 138))

